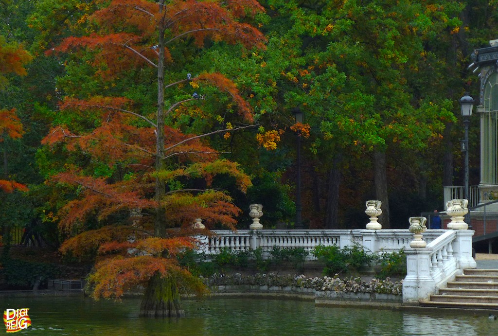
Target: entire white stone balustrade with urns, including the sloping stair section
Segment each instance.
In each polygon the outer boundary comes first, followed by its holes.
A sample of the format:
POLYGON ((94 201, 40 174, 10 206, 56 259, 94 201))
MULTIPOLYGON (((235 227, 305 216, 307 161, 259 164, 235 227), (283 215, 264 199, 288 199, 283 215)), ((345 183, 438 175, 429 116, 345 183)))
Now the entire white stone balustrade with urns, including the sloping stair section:
MULTIPOLYGON (((403 281, 403 303, 418 304, 444 287, 448 281, 462 274, 465 268, 476 268, 472 258, 472 236, 464 216, 468 213, 467 200, 448 202, 446 214, 451 217, 449 230, 431 229, 426 219, 412 217, 408 229, 381 229, 377 216, 381 214, 379 201, 366 203, 370 223, 366 229, 355 230, 273 230, 262 229, 259 218, 262 205, 250 206, 253 219, 249 230, 212 230, 213 235, 198 236, 199 250, 207 254, 219 253, 224 248, 248 251, 261 248, 263 258, 272 248, 302 247, 308 252, 318 245, 336 245, 339 248, 359 245, 367 252, 393 252, 404 248, 407 276, 403 281), (415 236, 414 236, 415 235, 415 236)), ((198 220, 197 222, 199 222, 198 220)), ((310 253, 308 260, 314 259, 310 253)))

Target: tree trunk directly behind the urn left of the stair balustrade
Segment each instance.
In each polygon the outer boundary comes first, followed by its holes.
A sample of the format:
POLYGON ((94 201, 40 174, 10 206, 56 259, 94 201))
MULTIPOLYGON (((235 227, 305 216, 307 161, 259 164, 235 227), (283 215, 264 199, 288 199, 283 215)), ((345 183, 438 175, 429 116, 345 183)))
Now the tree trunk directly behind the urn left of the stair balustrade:
POLYGON ((385 152, 377 149, 373 152, 373 182, 375 185, 375 197, 382 202, 382 215, 379 216, 379 223, 382 228, 390 228, 389 223, 389 195, 387 194, 387 173, 385 166, 385 152))

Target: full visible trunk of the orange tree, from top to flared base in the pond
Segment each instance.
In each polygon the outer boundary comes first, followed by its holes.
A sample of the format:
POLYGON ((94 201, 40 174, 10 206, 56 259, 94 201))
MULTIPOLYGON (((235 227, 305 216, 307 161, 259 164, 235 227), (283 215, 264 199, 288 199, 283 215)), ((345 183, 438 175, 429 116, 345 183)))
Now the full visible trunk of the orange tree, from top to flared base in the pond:
MULTIPOLYGON (((156 159, 155 169, 161 171, 164 167, 164 22, 165 0, 159 1, 158 22, 158 45, 159 56, 157 61, 157 115, 156 115, 156 159)), ((162 199, 166 194, 166 186, 163 181, 155 179, 155 200, 158 203, 154 219, 154 235, 166 237, 166 214, 161 206, 162 199)), ((164 251, 167 253, 167 251, 164 251)), ((180 295, 175 278, 165 274, 155 274, 148 282, 145 294, 140 305, 140 316, 164 318, 182 317, 185 311, 181 307, 180 295)))

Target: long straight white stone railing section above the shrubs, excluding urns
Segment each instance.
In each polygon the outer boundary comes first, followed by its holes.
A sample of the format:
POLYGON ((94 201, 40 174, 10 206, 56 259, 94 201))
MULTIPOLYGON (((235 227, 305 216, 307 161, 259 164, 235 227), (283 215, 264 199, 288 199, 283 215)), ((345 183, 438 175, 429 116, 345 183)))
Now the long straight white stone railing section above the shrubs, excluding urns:
MULTIPOLYGON (((446 230, 428 230, 424 240, 430 243, 446 230)), ((358 244, 371 252, 392 252, 410 246, 413 234, 407 229, 382 230, 212 230, 213 236, 198 237, 199 250, 207 254, 219 253, 227 248, 247 251, 260 247, 263 257, 275 246, 279 248, 302 247, 311 252, 318 245, 336 245, 339 248, 358 244)), ((314 259, 313 255, 308 260, 314 259)))

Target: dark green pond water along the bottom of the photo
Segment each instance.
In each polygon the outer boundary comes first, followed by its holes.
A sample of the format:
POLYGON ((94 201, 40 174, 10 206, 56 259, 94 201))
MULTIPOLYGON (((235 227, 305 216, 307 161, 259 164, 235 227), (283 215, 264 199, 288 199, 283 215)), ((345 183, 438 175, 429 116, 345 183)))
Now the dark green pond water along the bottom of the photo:
MULTIPOLYGON (((32 329, 12 335, 497 335, 487 316, 421 315, 315 307, 267 299, 185 300, 182 319, 138 317, 139 299, 0 298, 0 309, 29 308, 32 329)), ((4 333, 2 327, 0 334, 4 333)))

